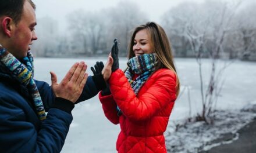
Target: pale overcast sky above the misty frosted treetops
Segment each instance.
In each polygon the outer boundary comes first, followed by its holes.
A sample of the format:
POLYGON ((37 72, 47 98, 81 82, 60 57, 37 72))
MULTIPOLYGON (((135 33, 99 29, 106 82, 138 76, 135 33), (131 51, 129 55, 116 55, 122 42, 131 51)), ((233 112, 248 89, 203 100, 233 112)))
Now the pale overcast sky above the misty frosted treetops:
MULTIPOLYGON (((58 20, 63 25, 59 28, 65 28, 66 15, 76 9, 86 11, 97 11, 104 8, 116 6, 122 0, 34 0, 37 5, 35 14, 37 19, 49 16, 58 20)), ((151 21, 159 22, 160 17, 166 10, 179 5, 179 3, 187 0, 126 0, 137 3, 139 8, 148 14, 151 21)), ((204 0, 190 0, 195 2, 203 2, 204 0)))

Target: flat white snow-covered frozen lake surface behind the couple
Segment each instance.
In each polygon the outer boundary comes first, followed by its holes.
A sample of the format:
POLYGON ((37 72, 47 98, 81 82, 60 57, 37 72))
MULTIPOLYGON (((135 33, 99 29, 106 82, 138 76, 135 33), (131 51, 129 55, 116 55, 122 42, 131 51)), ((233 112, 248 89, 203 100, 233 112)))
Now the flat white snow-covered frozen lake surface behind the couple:
MULTIPOLYGON (((69 68, 76 61, 85 61, 88 65, 87 72, 92 75, 90 67, 95 64, 95 61, 106 61, 102 57, 90 57, 84 59, 35 59, 35 79, 46 81, 51 84, 51 77, 49 71, 54 71, 58 76, 58 81, 64 77, 69 68)), ((126 58, 120 58, 120 68, 125 69, 126 58)), ((189 87, 191 96, 192 115, 195 115, 201 108, 200 98, 200 83, 198 74, 198 65, 195 59, 175 59, 177 65, 177 72, 180 78, 182 89, 189 87)), ((209 60, 203 60, 203 72, 205 86, 209 79, 209 60)), ((219 62, 222 64, 222 61, 219 62)), ((232 63, 223 74, 225 82, 223 84, 221 97, 218 99, 216 107, 219 110, 228 110, 231 114, 236 110, 240 110, 246 105, 255 103, 256 94, 256 63, 235 61, 232 63)), ((227 116, 230 116, 226 114, 227 116)), ((69 133, 62 152, 115 152, 116 138, 119 133, 119 125, 113 125, 104 116, 99 103, 98 96, 93 99, 77 104, 73 114, 73 122, 70 126, 69 133)), ((225 114, 225 113, 224 113, 225 114)), ((170 116, 169 125, 180 122, 182 119, 189 116, 189 102, 187 98, 187 91, 184 90, 182 96, 176 101, 170 116)), ((232 116, 232 115, 231 115, 232 116)), ((251 117, 246 117, 246 121, 251 117)), ((243 119, 242 119, 243 120, 243 119)), ((245 123, 245 122, 243 122, 245 123)), ((201 126, 201 123, 193 126, 201 126)), ((241 126, 241 124, 239 125, 241 126)), ((225 129, 219 129, 225 132, 225 129)), ((222 133, 221 131, 218 133, 222 133)), ((173 133, 172 126, 169 126, 168 133, 173 137, 179 137, 173 133), (170 132, 170 133, 169 133, 170 132)), ((213 134, 217 136, 218 134, 213 134)), ((182 136, 186 136, 183 132, 182 136)), ((210 136, 206 136, 210 137, 210 136)), ((166 137, 167 143, 172 143, 166 137)), ((210 137, 213 139, 214 137, 210 137)), ((189 140, 188 140, 189 141, 189 140)), ((186 141, 185 143, 191 143, 186 141)), ((194 141, 197 145, 198 141, 194 141)), ((200 141, 199 141, 200 143, 200 141)), ((170 144, 172 145, 172 144, 170 144)), ((200 146, 200 145, 199 145, 200 146)), ((186 146, 185 146, 186 147, 186 146)), ((187 146, 189 149, 191 146, 187 146)))

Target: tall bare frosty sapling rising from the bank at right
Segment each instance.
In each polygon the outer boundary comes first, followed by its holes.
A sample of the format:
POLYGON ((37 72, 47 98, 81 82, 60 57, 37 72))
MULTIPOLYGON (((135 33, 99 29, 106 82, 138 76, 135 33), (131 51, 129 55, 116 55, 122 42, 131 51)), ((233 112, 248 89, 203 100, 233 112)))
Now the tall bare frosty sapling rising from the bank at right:
POLYGON ((173 34, 188 42, 189 49, 194 53, 198 63, 202 111, 198 113, 197 121, 209 122, 209 117, 215 109, 223 84, 222 72, 227 66, 218 65, 218 60, 224 54, 223 42, 227 33, 232 31, 230 23, 239 3, 238 1, 186 2, 170 9, 163 16, 164 27, 170 31, 170 38, 173 34), (211 71, 206 85, 204 83, 206 75, 202 72, 203 57, 209 57, 211 60, 211 71))

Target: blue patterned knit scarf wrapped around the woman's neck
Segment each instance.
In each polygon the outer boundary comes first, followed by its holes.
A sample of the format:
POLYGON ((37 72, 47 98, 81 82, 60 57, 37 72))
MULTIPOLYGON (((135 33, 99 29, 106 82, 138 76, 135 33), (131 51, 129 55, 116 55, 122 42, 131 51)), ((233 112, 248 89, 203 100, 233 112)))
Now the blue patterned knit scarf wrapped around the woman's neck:
MULTIPOLYGON (((148 77, 154 72, 155 63, 157 63, 157 56, 154 53, 135 56, 127 62, 128 68, 125 71, 125 76, 136 95, 148 77), (134 74, 139 75, 135 80, 133 80, 134 74)), ((117 107, 117 111, 120 116, 122 111, 119 107, 117 107)))

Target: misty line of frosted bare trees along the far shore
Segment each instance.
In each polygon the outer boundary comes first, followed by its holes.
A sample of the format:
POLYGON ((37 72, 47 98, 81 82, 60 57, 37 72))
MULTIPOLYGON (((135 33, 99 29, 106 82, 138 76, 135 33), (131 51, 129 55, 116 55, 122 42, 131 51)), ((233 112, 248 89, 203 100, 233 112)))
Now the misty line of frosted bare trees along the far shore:
MULTIPOLYGON (((165 12, 159 24, 168 34, 176 57, 256 60, 255 7, 253 1, 185 2, 165 12)), ((58 29, 63 25, 51 17, 38 19, 35 56, 105 56, 115 37, 120 56, 126 56, 131 31, 149 18, 136 3, 121 1, 98 12, 75 10, 66 21, 68 27, 63 32, 58 29)))

